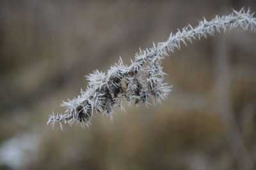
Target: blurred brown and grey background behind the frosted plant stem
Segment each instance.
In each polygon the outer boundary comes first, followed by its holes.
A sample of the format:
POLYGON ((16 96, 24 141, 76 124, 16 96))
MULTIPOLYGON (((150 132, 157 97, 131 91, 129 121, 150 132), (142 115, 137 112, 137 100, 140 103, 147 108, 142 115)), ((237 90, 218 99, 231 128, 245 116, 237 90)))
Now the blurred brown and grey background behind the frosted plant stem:
POLYGON ((240 28, 170 53, 162 104, 85 129, 46 125, 84 75, 243 6, 256 11, 253 0, 0 1, 0 169, 254 169, 256 35, 240 28))

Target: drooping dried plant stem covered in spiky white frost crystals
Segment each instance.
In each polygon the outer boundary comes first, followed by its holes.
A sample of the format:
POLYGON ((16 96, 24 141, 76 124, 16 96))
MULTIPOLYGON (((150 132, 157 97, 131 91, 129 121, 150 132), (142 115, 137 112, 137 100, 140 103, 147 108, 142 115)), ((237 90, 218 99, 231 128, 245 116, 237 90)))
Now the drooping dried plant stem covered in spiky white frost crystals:
POLYGON ((230 31, 237 26, 242 29, 256 31, 256 18, 248 9, 243 8, 227 16, 216 16, 212 20, 201 20, 196 27, 188 25, 181 31, 178 29, 176 34, 170 34, 167 41, 162 43, 153 43, 153 47, 140 50, 135 54, 135 59, 131 60, 131 65, 127 66, 120 57, 118 63, 110 67, 107 73, 96 70, 86 76, 88 86, 86 90, 81 90, 81 94, 61 106, 66 107, 65 114, 49 115, 47 124, 54 126, 55 122, 72 125, 74 122, 89 126, 90 120, 95 113, 107 115, 113 119, 113 108, 119 106, 123 108, 123 102, 126 100, 129 104, 133 101, 135 104, 149 104, 152 102, 160 103, 171 91, 171 87, 164 83, 163 67, 161 60, 168 52, 180 49, 180 43, 186 45, 186 41, 192 43, 194 39, 200 39, 207 35, 214 36, 216 31, 221 29, 230 31))

